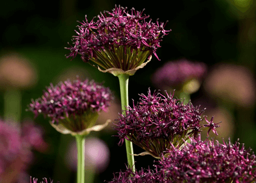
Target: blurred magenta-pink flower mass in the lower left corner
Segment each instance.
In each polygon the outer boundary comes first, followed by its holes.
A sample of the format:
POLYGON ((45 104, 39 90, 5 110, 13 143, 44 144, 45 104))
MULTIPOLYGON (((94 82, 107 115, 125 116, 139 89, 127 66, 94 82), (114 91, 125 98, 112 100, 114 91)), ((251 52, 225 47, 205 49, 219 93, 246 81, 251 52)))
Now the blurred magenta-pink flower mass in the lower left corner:
POLYGON ((25 174, 33 160, 31 149, 38 147, 45 151, 47 148, 42 136, 41 128, 31 122, 23 122, 19 126, 17 122, 0 120, 0 182, 17 182, 20 175, 25 174), (37 141, 29 140, 35 137, 37 141))

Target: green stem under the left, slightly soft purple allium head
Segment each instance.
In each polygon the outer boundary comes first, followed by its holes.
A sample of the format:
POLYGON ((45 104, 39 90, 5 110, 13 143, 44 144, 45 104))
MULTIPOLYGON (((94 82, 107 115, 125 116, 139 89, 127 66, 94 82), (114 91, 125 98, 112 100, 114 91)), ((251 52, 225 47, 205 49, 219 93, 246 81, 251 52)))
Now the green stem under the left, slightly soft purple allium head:
POLYGON ((77 141, 77 183, 85 183, 85 136, 75 135, 77 141))

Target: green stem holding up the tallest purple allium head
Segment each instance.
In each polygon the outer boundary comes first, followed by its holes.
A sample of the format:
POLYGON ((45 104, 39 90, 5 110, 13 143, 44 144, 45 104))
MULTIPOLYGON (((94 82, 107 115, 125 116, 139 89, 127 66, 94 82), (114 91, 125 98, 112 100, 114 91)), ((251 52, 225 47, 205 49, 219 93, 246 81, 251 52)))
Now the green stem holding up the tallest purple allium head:
MULTIPOLYGON (((117 77, 119 79, 119 85, 120 85, 121 106, 122 106, 123 114, 125 115, 125 110, 127 110, 126 106, 129 105, 129 98, 128 98, 129 75, 118 75, 117 77)), ((135 172, 133 143, 125 139, 125 146, 126 146, 128 166, 133 170, 133 172, 135 172)))

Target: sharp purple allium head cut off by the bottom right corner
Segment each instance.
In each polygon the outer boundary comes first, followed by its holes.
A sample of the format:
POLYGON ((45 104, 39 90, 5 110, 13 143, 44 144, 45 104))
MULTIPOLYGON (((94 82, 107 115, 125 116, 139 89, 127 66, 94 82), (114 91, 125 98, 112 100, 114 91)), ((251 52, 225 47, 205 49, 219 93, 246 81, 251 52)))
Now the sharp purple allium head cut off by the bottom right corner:
POLYGON ((188 183, 256 182, 255 155, 244 144, 191 138, 181 150, 172 146, 159 161, 166 180, 188 183))

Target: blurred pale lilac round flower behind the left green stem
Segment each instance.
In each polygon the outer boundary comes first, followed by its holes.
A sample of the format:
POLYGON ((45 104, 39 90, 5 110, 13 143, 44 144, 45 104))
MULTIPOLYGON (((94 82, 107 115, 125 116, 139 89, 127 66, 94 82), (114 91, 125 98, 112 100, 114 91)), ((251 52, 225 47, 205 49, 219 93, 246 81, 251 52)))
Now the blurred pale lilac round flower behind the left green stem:
MULTIPOLYGON (((85 170, 103 172, 109 165, 109 148, 99 138, 85 140, 85 170)), ((67 150, 65 162, 72 170, 77 170, 77 146, 72 142, 67 150)))

